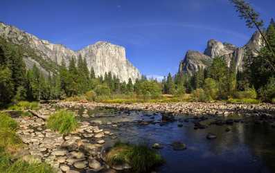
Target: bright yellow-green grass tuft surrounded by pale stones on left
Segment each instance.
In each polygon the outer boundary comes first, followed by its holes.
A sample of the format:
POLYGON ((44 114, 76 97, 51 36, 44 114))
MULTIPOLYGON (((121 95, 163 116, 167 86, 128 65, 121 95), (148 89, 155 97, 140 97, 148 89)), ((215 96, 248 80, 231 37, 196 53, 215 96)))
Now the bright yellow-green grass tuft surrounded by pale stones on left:
POLYGON ((71 131, 75 130, 77 126, 78 122, 71 111, 57 111, 47 120, 47 127, 59 131, 60 134, 69 134, 71 131))

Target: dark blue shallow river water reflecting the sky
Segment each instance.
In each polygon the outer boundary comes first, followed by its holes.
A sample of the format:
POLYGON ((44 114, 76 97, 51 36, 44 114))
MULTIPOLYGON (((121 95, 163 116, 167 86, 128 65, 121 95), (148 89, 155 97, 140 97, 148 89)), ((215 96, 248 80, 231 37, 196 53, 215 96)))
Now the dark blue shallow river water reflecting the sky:
MULTIPOLYGON (((78 110, 82 115, 83 108, 78 110)), ((200 121, 207 128, 194 129, 198 119, 193 116, 176 116, 173 122, 161 123, 161 113, 145 111, 98 109, 89 110, 87 114, 94 117, 81 120, 97 122, 100 128, 117 136, 115 139, 105 138, 106 146, 112 146, 118 140, 163 145, 159 152, 166 163, 158 167, 157 172, 275 172, 275 129, 265 121, 255 122, 254 118, 238 116, 233 117, 236 119, 233 125, 211 125, 214 120, 229 118, 209 116, 200 121), (179 127, 179 124, 183 126, 179 127), (230 131, 227 132, 227 128, 230 131), (209 133, 217 138, 207 139, 209 133), (173 150, 170 144, 175 141, 185 143, 187 149, 173 150)))

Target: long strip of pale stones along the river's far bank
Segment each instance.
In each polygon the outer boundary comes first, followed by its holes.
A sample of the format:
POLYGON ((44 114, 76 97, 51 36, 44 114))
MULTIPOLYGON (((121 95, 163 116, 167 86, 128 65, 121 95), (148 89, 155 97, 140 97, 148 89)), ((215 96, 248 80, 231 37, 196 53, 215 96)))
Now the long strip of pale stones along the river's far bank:
POLYGON ((95 107, 110 107, 116 109, 159 111, 172 114, 217 115, 229 116, 231 114, 247 115, 275 115, 275 104, 232 104, 224 102, 175 102, 175 103, 133 103, 133 104, 109 104, 100 102, 57 102, 60 107, 80 107, 94 109, 95 107))

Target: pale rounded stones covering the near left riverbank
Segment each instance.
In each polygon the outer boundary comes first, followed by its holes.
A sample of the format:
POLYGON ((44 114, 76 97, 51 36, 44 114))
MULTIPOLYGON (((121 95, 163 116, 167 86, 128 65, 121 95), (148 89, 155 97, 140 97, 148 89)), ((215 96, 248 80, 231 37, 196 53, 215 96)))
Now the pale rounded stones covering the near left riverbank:
POLYGON ((36 116, 15 118, 20 127, 17 134, 26 144, 19 153, 25 161, 44 161, 57 172, 116 172, 100 158, 104 138, 113 135, 110 131, 82 121, 77 131, 62 136, 45 125, 45 120, 55 112, 55 108, 43 104, 42 109, 32 112, 36 116))

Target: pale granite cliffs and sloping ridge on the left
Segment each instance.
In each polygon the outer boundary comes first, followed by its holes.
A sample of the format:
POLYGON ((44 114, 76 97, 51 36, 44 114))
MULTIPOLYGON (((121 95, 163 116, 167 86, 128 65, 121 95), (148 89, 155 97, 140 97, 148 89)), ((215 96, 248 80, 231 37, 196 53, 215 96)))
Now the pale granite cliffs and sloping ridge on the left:
POLYGON ((39 39, 34 35, 24 32, 14 26, 9 26, 0 22, 0 38, 5 39, 11 44, 17 44, 26 51, 24 62, 28 69, 34 64, 43 73, 51 73, 62 59, 69 65, 72 57, 82 55, 87 60, 88 68, 94 68, 96 76, 105 75, 111 72, 122 82, 127 82, 129 78, 135 81, 141 78, 141 73, 134 67, 125 55, 125 48, 109 42, 96 42, 80 51, 73 51, 61 44, 51 44, 50 42, 39 39))

